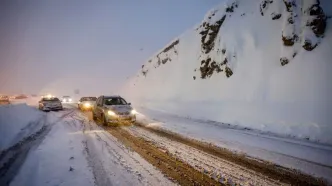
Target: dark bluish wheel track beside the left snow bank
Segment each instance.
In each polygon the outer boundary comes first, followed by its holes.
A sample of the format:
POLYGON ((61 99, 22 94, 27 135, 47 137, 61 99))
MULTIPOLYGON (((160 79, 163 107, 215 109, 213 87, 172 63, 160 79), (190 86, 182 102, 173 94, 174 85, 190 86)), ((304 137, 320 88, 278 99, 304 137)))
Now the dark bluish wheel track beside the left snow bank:
POLYGON ((4 150, 0 154, 0 185, 9 185, 20 170, 30 149, 36 148, 51 131, 52 127, 73 111, 63 114, 58 120, 51 124, 46 124, 46 117, 38 122, 44 122, 43 127, 36 133, 25 137, 20 142, 4 150))

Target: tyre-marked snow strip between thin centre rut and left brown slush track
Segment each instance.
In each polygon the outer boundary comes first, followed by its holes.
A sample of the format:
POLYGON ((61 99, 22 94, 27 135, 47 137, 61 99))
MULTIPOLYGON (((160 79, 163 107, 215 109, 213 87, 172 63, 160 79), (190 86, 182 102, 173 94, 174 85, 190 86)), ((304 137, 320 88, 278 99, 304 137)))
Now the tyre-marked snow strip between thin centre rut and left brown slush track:
MULTIPOLYGON (((132 175, 139 185, 169 185, 160 180, 160 175, 155 175, 156 170, 152 166, 146 166, 141 163, 142 159, 131 149, 120 143, 115 137, 111 136, 103 128, 89 121, 85 116, 74 115, 73 118, 83 125, 83 133, 87 134, 86 141, 83 142, 89 166, 95 178, 96 185, 112 185, 115 180, 112 176, 119 176, 117 170, 109 170, 105 167, 112 164, 120 171, 132 175), (98 152, 101 146, 102 152, 98 152), (99 153, 99 154, 98 154, 99 153), (100 153, 107 157, 107 163, 99 157, 100 153), (105 164, 106 163, 106 164, 105 164), (117 174, 117 175, 116 175, 117 174)), ((125 178, 125 177, 124 177, 125 178)), ((162 176, 162 178, 164 178, 162 176)), ((171 183, 171 182, 170 182, 171 183)), ((124 183, 121 183, 124 184, 124 183)), ((127 184, 133 184, 128 182, 127 184)))

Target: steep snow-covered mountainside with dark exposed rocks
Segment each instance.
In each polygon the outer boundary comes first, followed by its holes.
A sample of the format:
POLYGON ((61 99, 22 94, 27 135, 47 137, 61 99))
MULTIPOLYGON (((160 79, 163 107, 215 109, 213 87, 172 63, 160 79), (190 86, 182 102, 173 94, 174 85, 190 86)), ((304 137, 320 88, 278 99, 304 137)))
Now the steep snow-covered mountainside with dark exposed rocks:
POLYGON ((332 144, 331 15, 331 0, 229 0, 148 59, 121 94, 332 144))

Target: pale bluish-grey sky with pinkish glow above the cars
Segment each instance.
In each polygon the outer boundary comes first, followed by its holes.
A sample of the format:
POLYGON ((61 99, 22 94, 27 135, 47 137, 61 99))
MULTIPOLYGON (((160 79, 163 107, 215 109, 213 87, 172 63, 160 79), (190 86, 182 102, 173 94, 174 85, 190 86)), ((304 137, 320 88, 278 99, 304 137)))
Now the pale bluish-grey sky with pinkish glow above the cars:
POLYGON ((0 94, 110 94, 222 0, 2 0, 0 94))

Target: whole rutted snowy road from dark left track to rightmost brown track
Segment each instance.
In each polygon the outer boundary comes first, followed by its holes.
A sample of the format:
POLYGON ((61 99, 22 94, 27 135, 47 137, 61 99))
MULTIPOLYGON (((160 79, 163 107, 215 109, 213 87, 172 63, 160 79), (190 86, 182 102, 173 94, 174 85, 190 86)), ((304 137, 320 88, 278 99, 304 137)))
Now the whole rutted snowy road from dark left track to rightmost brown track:
POLYGON ((102 127, 71 105, 42 116, 39 130, 0 152, 0 185, 326 184, 149 127, 102 127))

